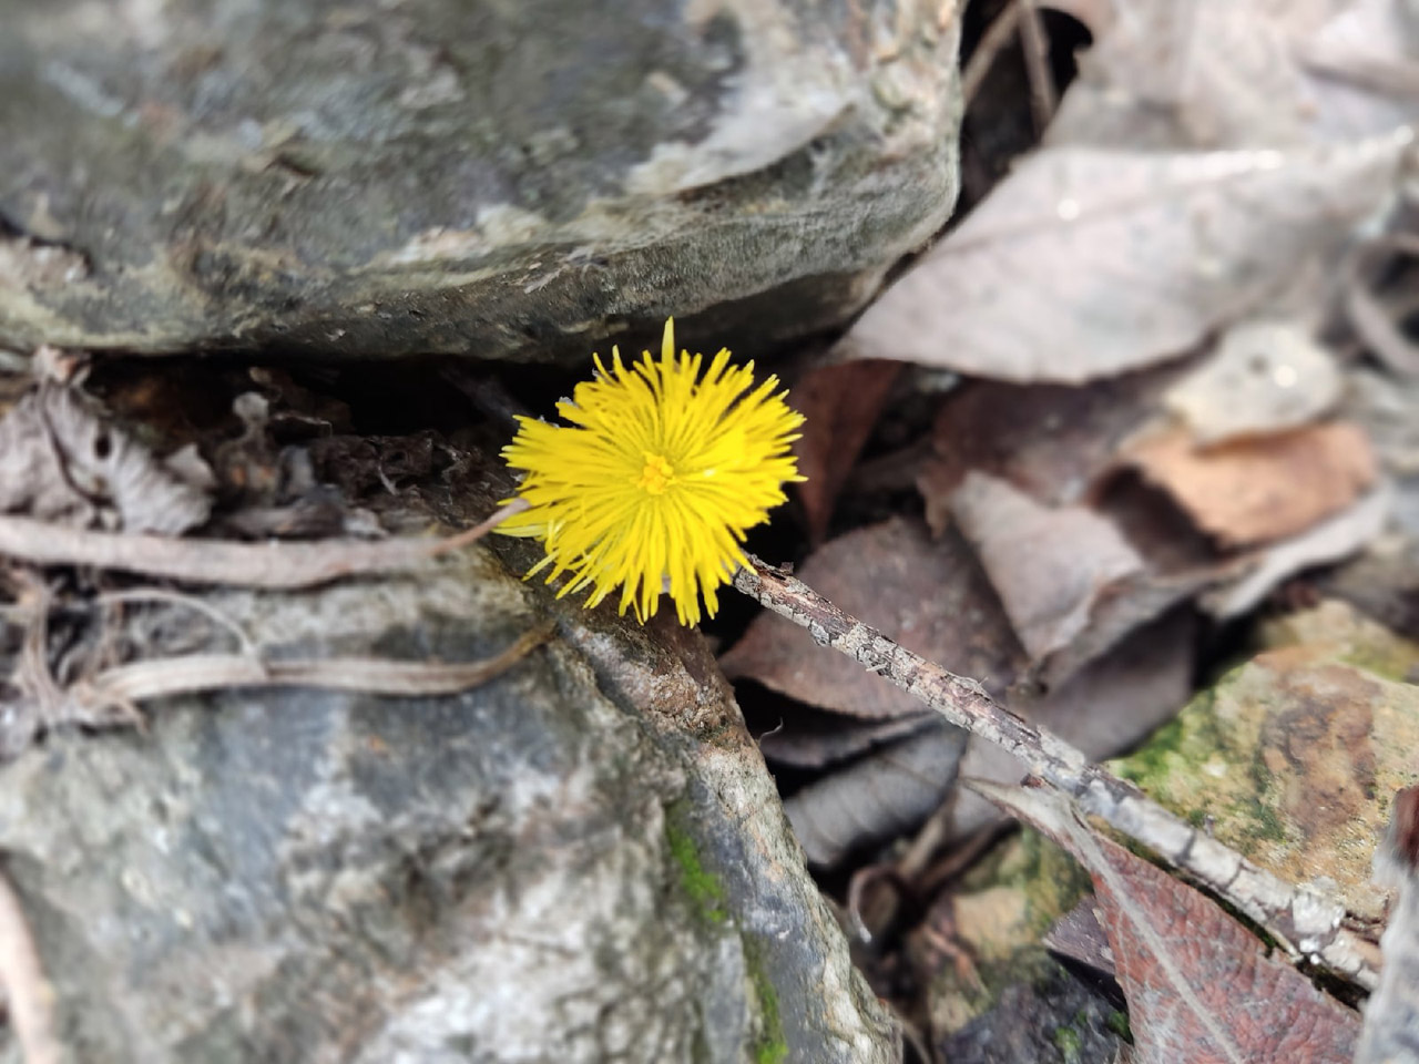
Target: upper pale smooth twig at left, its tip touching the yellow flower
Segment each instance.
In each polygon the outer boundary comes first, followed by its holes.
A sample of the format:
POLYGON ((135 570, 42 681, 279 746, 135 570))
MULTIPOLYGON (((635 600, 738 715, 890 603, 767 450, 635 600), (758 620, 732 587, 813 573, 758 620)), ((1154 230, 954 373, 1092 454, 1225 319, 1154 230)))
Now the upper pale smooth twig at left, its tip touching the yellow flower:
POLYGON ((524 509, 526 504, 517 499, 480 525, 446 539, 410 538, 377 543, 176 539, 89 532, 33 518, 0 515, 0 555, 31 565, 87 565, 189 583, 289 590, 314 587, 356 573, 413 567, 481 539, 524 509))

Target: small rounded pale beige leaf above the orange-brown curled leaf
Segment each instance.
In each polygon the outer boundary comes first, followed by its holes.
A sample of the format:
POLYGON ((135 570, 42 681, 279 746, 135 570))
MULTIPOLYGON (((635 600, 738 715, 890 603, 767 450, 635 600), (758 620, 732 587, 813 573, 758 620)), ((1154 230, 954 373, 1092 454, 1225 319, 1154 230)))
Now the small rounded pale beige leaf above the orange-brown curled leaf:
POLYGON ((1188 423, 1196 443, 1213 444, 1308 424, 1340 401, 1342 387, 1334 356, 1305 329, 1247 321, 1168 389, 1164 406, 1188 423))

